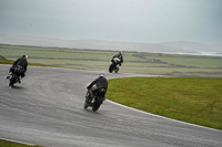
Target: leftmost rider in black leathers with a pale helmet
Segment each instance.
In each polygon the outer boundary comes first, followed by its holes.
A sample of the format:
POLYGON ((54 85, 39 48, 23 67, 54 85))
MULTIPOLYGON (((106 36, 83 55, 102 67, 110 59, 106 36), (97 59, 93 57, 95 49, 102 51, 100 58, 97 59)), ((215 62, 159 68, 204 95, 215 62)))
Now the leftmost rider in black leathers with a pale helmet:
POLYGON ((26 72, 27 72, 27 66, 28 66, 28 62, 27 62, 28 55, 22 55, 21 57, 19 57, 10 67, 9 70, 9 74, 7 76, 7 78, 9 78, 13 73, 16 67, 21 67, 21 77, 19 77, 19 83, 21 83, 21 78, 26 76, 26 72))

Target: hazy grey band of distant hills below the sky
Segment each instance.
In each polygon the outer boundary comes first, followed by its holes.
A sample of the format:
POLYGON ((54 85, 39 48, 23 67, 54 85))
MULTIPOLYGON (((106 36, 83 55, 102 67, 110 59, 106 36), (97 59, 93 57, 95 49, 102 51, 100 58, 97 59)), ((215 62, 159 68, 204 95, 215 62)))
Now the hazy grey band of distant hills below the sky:
POLYGON ((132 43, 103 40, 60 40, 38 36, 0 34, 0 43, 12 45, 56 46, 70 49, 93 49, 112 51, 138 51, 180 54, 202 54, 222 56, 222 44, 208 45, 195 42, 132 43))

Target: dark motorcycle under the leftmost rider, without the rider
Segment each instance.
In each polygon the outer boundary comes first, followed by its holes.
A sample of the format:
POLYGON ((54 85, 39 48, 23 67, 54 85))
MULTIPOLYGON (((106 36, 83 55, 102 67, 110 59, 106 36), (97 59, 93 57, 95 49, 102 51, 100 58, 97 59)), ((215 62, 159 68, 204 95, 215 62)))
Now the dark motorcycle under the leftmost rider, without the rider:
POLYGON ((16 83, 18 83, 21 80, 21 73, 23 72, 23 69, 21 66, 16 66, 14 72, 12 75, 9 76, 9 86, 12 87, 16 83))

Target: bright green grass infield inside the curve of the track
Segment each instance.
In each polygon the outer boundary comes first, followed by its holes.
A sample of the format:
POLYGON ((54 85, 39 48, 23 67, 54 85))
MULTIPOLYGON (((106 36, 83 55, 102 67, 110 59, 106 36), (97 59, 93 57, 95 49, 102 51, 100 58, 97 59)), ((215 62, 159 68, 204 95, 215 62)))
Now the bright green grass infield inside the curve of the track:
POLYGON ((222 129, 222 80, 127 77, 109 80, 107 97, 130 107, 222 129))

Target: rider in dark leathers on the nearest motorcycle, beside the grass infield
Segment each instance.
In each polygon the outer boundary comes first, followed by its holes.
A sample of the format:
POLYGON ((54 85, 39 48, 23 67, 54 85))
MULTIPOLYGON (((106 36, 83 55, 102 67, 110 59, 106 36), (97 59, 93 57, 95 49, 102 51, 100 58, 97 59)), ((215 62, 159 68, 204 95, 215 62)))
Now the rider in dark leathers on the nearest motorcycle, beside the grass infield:
MULTIPOLYGON (((95 78, 87 88, 88 88, 88 92, 87 92, 85 98, 88 98, 89 101, 93 98, 95 91, 99 88, 105 88, 105 93, 107 93, 108 81, 105 78, 104 73, 100 73, 99 77, 95 78), (94 87, 93 90, 91 90, 92 86, 94 87)), ((103 96, 103 101, 105 99, 105 93, 103 96)))

